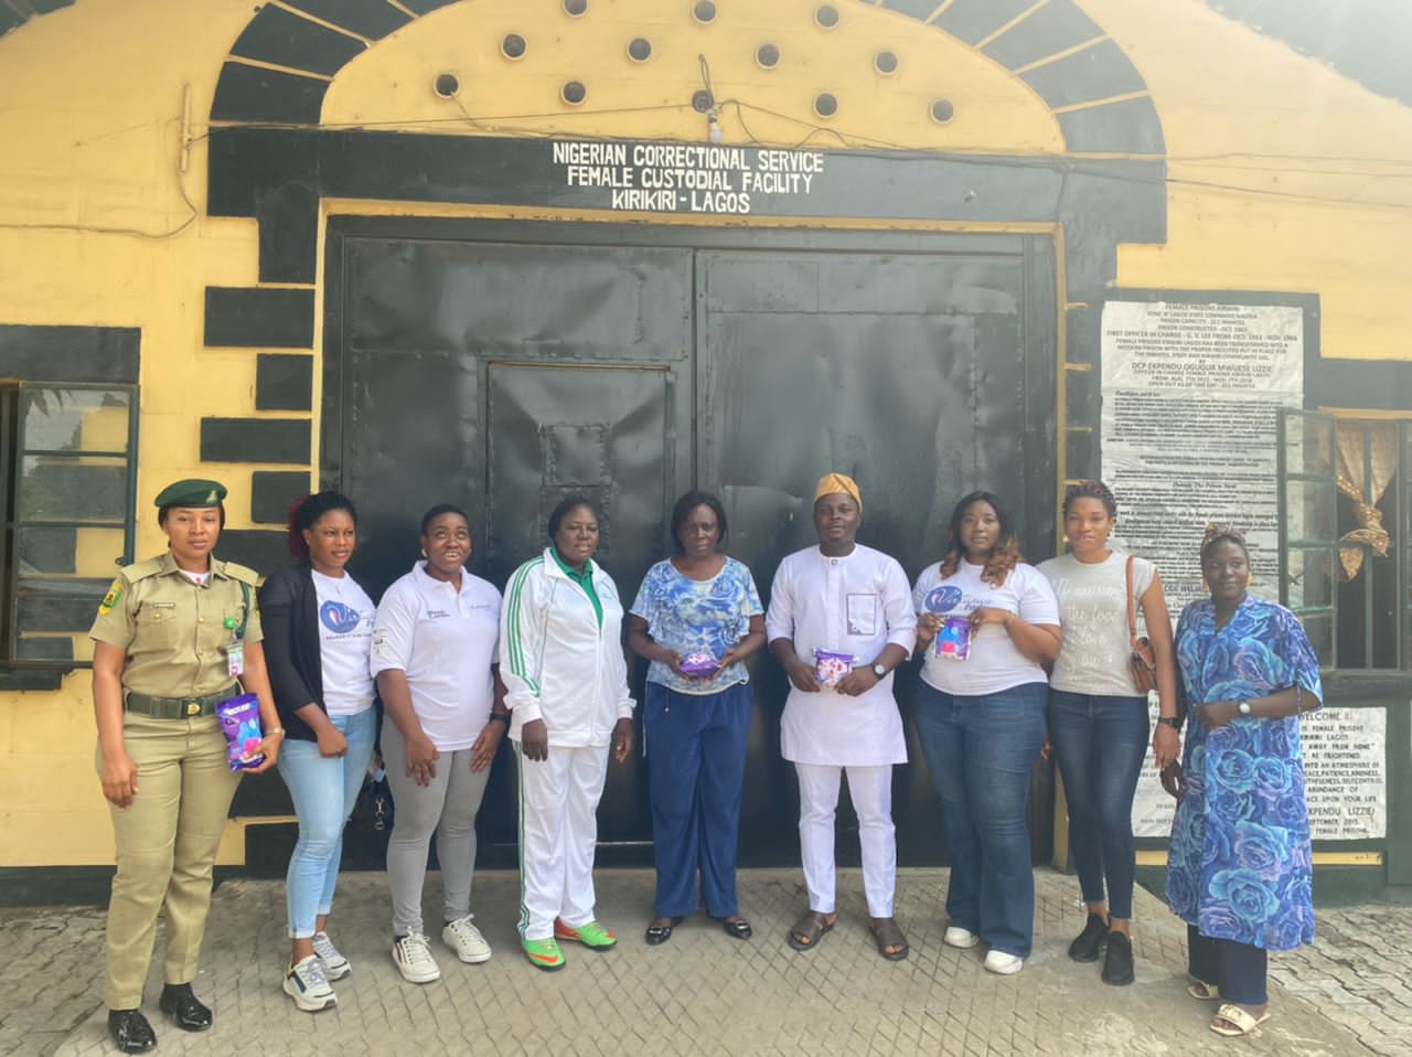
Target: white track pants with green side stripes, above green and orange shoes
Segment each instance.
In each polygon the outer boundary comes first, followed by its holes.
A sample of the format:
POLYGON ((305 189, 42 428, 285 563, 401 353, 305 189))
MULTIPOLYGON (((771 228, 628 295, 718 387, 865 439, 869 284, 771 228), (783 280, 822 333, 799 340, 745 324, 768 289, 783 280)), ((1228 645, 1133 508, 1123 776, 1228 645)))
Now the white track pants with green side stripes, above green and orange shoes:
POLYGON ((520 764, 520 935, 546 940, 554 919, 570 928, 593 920, 593 851, 609 748, 549 746, 549 759, 520 764))

